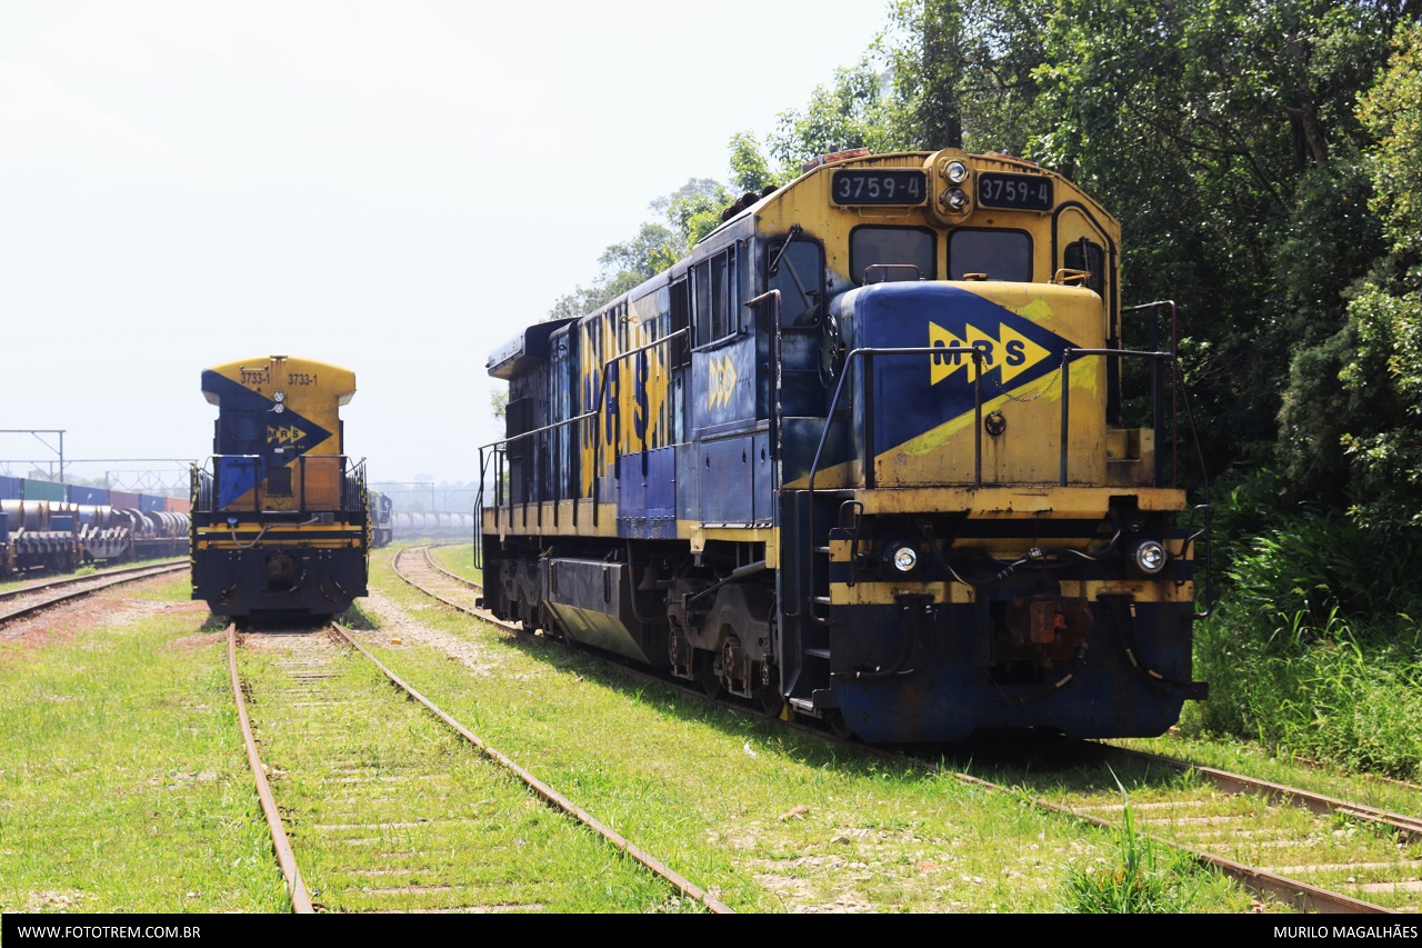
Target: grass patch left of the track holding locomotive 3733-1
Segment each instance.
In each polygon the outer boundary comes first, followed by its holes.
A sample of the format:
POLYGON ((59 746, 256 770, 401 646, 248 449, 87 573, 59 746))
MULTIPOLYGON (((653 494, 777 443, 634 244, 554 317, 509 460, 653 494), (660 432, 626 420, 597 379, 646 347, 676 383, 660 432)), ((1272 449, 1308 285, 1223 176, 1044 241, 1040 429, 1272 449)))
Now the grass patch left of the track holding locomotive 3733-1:
POLYGON ((287 908, 186 578, 44 616, 0 639, 0 911, 287 908))

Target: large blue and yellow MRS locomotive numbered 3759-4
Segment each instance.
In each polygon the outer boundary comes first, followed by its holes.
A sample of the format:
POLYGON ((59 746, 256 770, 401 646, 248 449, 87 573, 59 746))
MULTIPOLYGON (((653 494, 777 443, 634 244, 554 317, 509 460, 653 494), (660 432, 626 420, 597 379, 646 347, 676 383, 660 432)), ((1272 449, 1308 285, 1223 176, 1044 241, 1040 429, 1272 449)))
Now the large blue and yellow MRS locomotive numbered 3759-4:
POLYGON ((1163 733, 1207 692, 1207 511, 1173 309, 1123 310, 1119 268, 1105 208, 1000 154, 745 195, 489 359, 486 605, 867 742, 1163 733))

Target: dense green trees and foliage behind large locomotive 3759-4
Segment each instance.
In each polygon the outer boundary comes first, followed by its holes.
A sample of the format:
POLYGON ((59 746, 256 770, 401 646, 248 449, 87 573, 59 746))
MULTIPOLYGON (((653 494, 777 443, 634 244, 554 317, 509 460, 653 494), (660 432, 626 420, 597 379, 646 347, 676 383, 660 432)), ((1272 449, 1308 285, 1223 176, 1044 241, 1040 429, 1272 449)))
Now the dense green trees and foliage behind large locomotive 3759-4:
POLYGON ((732 186, 658 202, 665 223, 609 248, 596 292, 560 312, 636 285, 720 204, 818 154, 961 139, 1064 172, 1122 222, 1126 299, 1179 305, 1227 541, 1197 659, 1214 709, 1241 709, 1207 723, 1288 740, 1249 706, 1288 702, 1230 670, 1246 653, 1256 679, 1301 668, 1283 641, 1422 666, 1419 20, 1422 0, 902 0, 764 145, 735 137, 732 186))

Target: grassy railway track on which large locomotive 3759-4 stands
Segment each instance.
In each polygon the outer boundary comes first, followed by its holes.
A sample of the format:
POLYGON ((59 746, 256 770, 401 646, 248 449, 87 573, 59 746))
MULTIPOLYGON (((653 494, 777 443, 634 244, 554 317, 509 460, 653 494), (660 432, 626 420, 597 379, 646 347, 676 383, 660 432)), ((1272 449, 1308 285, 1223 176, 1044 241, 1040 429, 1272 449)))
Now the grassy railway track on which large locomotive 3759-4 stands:
MULTIPOLYGON (((476 609, 478 584, 435 564, 428 547, 400 551, 395 571, 447 605, 528 635, 476 609)), ((1062 791, 1047 783, 1032 789, 1031 781, 1012 789, 953 776, 1007 793, 1022 793, 1025 786, 1032 804, 1105 828, 1119 830, 1129 814, 1136 831, 1153 843, 1298 911, 1422 908, 1422 818, 1140 752, 1111 747, 1109 754, 1089 790, 1062 791), (1145 790, 1123 799, 1118 777, 1145 790)), ((921 763, 937 769, 931 760, 921 763)))

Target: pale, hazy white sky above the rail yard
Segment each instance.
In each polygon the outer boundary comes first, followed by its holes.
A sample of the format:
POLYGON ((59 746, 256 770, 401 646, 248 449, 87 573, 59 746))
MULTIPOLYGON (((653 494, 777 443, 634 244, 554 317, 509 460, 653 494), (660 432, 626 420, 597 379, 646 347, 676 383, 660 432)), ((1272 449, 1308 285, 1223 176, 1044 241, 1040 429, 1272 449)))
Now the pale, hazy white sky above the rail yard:
POLYGON ((356 372, 373 480, 474 480, 489 352, 654 198, 727 179, 731 135, 764 139, 886 10, 6 0, 0 428, 203 458, 202 369, 279 353, 356 372))

